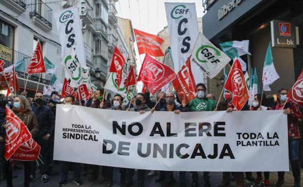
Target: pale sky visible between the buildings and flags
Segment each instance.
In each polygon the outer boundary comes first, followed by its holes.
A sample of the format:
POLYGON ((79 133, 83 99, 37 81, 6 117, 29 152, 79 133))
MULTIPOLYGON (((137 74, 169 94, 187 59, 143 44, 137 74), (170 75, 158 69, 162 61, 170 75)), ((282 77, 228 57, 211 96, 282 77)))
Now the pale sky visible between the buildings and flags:
MULTIPOLYGON (((158 34, 167 26, 164 2, 195 2, 197 17, 203 15, 202 0, 119 0, 116 3, 116 9, 118 17, 132 20, 134 29, 150 34, 158 34)), ((139 73, 145 54, 139 56, 136 45, 135 52, 137 72, 139 73)), ((142 86, 141 82, 137 83, 138 92, 141 92, 142 86)))

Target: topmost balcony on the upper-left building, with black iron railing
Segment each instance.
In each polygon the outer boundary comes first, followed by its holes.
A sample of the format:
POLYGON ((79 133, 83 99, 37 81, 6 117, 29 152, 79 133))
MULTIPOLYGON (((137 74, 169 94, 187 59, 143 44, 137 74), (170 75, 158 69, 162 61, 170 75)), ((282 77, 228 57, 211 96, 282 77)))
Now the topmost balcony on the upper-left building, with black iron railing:
POLYGON ((52 29, 52 9, 42 0, 32 0, 30 17, 34 24, 46 32, 52 29))

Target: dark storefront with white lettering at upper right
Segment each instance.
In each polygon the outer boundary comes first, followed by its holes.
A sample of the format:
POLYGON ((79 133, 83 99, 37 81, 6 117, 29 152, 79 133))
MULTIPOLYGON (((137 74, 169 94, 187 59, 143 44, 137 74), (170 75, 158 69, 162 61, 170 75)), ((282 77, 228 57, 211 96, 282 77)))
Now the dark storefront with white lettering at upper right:
POLYGON ((266 50, 271 41, 270 21, 284 20, 294 28, 294 45, 273 47, 274 66, 280 75, 265 92, 269 97, 279 88, 289 89, 303 69, 303 0, 204 0, 203 34, 214 44, 250 40, 251 56, 243 56, 248 69, 257 68, 260 84, 266 50), (206 2, 209 3, 206 3, 206 2), (297 27, 297 33, 296 28, 297 27), (299 32, 298 32, 299 31, 299 32), (298 43, 297 43, 298 42, 298 43), (295 46, 295 47, 294 47, 295 46))

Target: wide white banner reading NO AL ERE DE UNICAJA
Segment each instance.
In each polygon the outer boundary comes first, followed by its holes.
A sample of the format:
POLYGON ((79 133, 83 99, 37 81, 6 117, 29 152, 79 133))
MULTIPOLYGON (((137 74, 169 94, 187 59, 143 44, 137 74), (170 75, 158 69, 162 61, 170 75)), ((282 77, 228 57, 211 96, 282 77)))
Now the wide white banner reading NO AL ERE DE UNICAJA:
POLYGON ((287 119, 277 110, 139 114, 57 104, 54 159, 144 170, 288 171, 287 119))

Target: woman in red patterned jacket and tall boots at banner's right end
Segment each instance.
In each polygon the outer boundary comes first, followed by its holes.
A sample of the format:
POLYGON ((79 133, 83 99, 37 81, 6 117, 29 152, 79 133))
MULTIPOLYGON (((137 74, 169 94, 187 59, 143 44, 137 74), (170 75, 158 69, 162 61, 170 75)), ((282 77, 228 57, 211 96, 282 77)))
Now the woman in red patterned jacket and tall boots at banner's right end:
MULTIPOLYGON (((299 140, 301 133, 299 124, 303 121, 303 111, 300 110, 299 105, 294 102, 287 102, 287 89, 282 88, 277 92, 277 101, 272 105, 273 110, 283 110, 287 115, 287 129, 288 129, 288 155, 292 174, 294 177, 294 187, 300 187, 301 182, 301 168, 299 160, 299 140), (285 102, 287 102, 285 104, 285 102), (285 104, 285 106, 284 106, 285 104)), ((278 181, 276 187, 281 187, 284 184, 284 171, 278 172, 278 181)))

